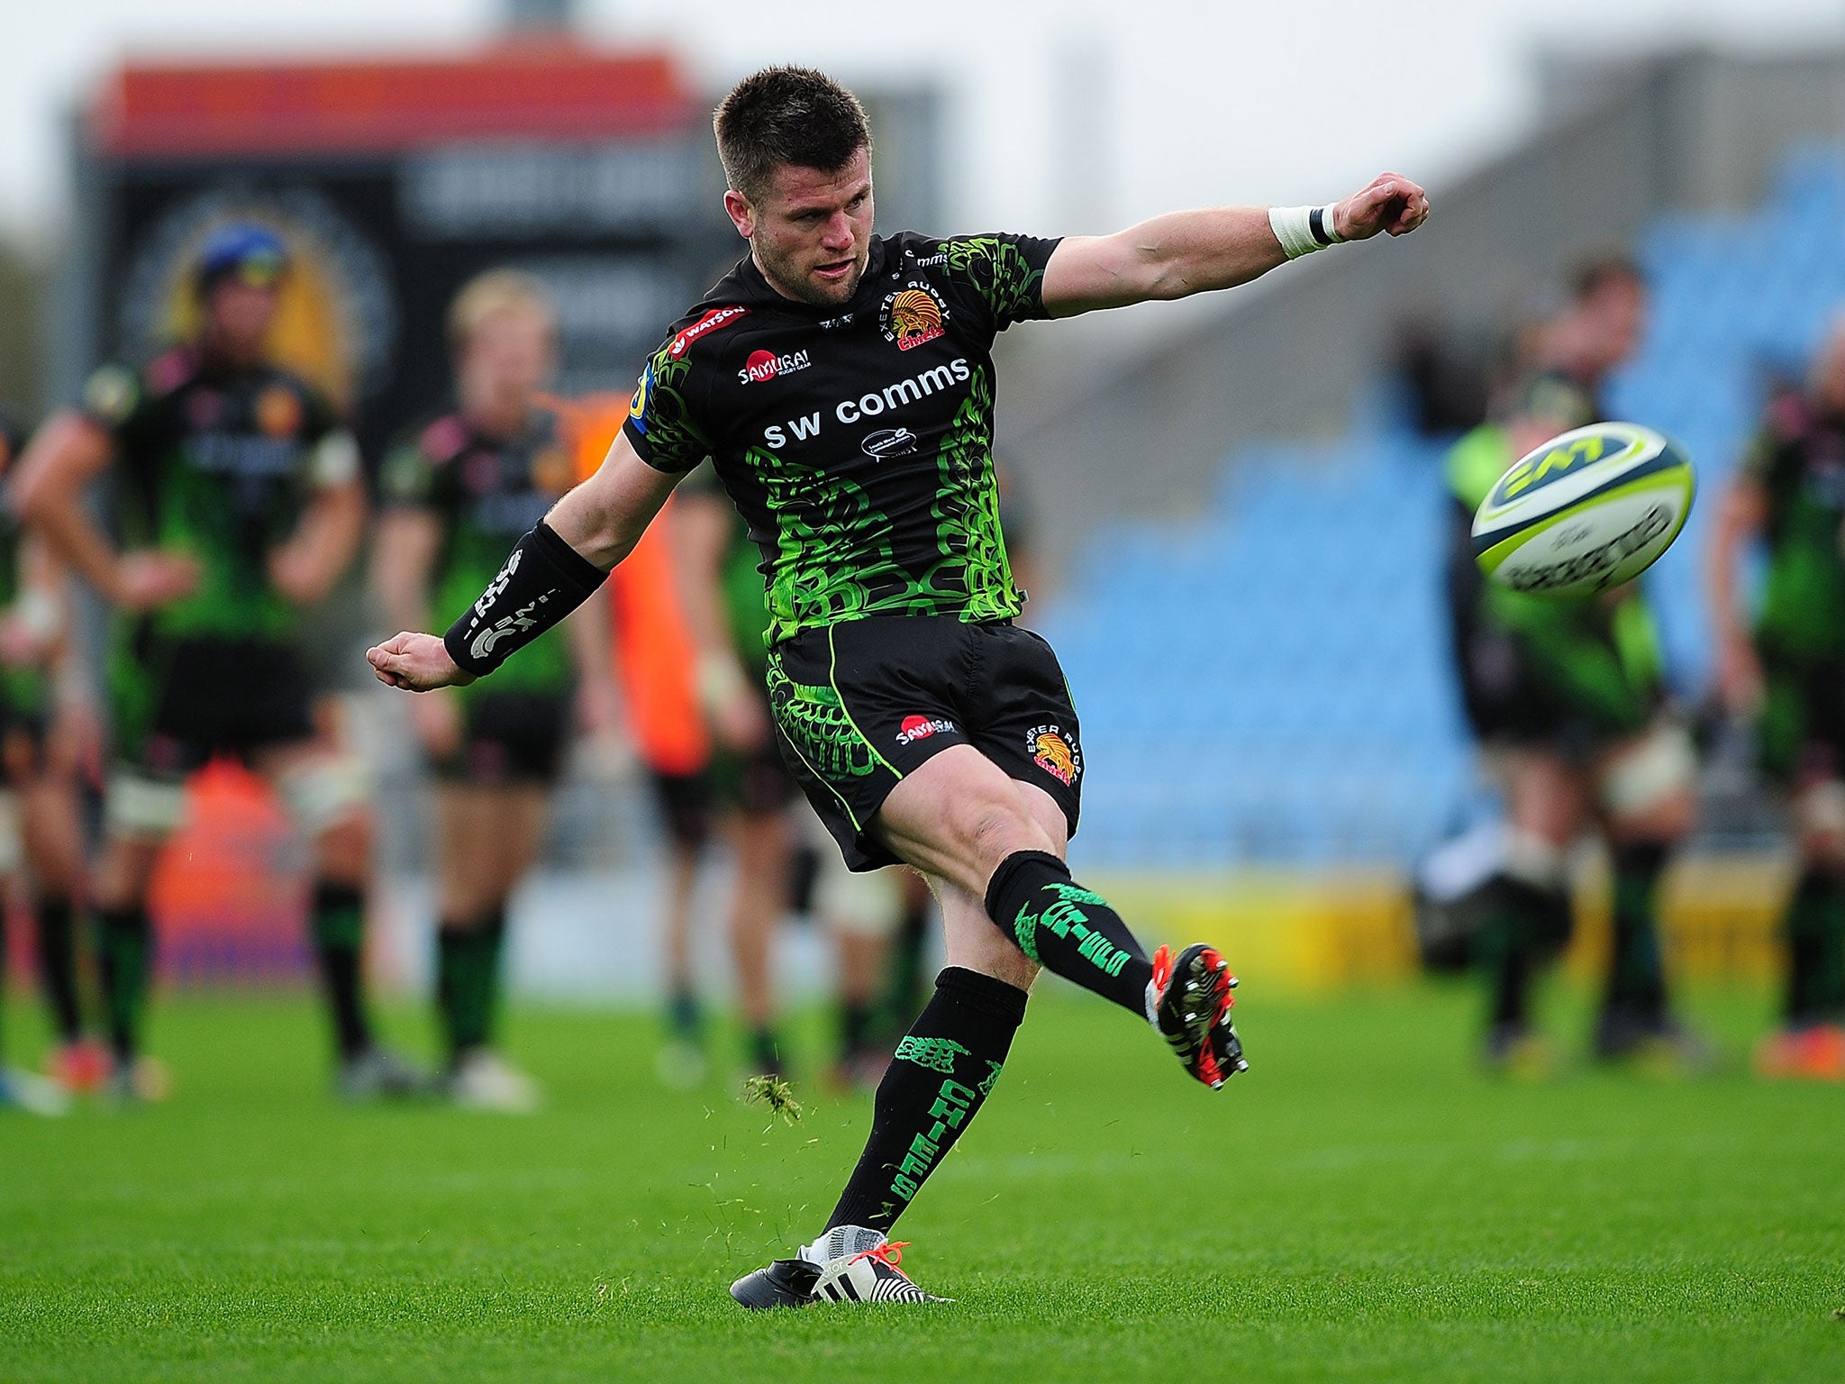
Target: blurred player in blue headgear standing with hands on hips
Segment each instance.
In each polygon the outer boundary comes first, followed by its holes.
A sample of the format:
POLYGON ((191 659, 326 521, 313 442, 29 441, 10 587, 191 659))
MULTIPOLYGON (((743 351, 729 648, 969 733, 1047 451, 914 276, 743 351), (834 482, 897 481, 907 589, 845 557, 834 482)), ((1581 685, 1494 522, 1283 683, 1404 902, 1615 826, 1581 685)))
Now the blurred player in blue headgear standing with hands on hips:
POLYGON ((400 1094, 419 1074, 373 1041, 363 1004, 371 827, 363 771, 315 742, 295 651, 303 611, 351 565, 365 520, 358 447, 312 386, 268 360, 282 240, 214 231, 194 264, 197 340, 144 371, 105 365, 20 463, 18 504, 118 616, 109 690, 116 768, 92 886, 118 1096, 159 1094, 140 1059, 153 967, 148 878, 181 819, 184 779, 245 758, 314 841, 314 950, 339 1089, 400 1094), (85 489, 114 482, 113 537, 85 489))

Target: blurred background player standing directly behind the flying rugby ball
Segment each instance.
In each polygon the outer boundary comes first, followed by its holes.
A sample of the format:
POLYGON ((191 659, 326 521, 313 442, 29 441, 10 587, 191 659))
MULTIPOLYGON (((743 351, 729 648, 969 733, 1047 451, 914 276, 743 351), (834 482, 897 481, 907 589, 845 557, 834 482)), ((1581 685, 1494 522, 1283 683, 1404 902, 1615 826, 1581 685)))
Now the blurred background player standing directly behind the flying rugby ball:
POLYGON ((1472 519, 1500 474, 1559 432, 1607 417, 1601 388, 1640 343, 1646 282, 1620 258, 1585 264, 1570 303, 1504 421, 1448 458, 1454 544, 1448 598, 1469 722, 1506 793, 1509 830, 1478 899, 1474 954, 1491 984, 1487 1061, 1533 1072, 1531 985, 1570 936, 1568 854, 1598 829, 1614 856, 1614 949, 1596 1019, 1600 1057, 1696 1061, 1672 1017, 1659 945, 1659 880, 1696 812, 1690 738, 1666 712, 1659 638, 1638 585, 1592 600, 1530 596, 1485 581, 1472 519))

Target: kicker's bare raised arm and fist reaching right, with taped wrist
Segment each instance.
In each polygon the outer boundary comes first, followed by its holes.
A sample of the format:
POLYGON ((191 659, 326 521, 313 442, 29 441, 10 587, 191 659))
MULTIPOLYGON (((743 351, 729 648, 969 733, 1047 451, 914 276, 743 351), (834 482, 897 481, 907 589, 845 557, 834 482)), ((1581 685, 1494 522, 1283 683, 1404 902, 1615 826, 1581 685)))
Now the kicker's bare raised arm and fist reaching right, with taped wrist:
MULTIPOLYGON (((1399 173, 1382 173, 1323 212, 1330 242, 1404 236, 1428 218, 1428 194, 1399 173)), ((1247 284, 1292 258, 1279 233, 1292 227, 1286 212, 1280 216, 1277 227, 1266 207, 1210 207, 1155 216, 1113 236, 1070 236, 1044 268, 1044 308, 1052 317, 1074 317, 1247 284)), ((1304 225, 1299 234, 1312 236, 1304 225)), ((1295 253, 1317 244, 1303 240, 1295 253)))

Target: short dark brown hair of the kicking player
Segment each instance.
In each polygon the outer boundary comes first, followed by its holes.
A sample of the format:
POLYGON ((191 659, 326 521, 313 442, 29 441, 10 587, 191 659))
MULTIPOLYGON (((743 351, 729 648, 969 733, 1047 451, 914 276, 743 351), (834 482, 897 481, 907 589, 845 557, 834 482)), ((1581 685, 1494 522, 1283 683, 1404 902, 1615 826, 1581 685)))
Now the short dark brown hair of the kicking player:
POLYGON ((865 107, 810 66, 766 66, 744 78, 712 120, 732 192, 755 201, 784 164, 836 173, 871 149, 865 107))

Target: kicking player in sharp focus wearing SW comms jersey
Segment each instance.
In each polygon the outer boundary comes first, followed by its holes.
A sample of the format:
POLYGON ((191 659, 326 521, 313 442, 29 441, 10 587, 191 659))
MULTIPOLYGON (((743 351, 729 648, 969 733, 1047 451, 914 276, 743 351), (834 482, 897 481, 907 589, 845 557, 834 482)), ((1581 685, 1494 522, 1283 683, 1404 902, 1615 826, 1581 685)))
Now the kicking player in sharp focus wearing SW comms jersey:
POLYGON ((1314 209, 1177 212, 1114 236, 875 236, 858 100, 806 68, 718 109, 725 209, 749 255, 648 362, 594 478, 513 550, 446 638, 369 651, 435 688, 491 674, 585 600, 707 456, 762 550, 768 688, 790 770, 854 869, 908 862, 948 967, 878 1085, 832 1216, 749 1273, 745 1306, 924 1299, 891 1225, 1000 1076, 1039 967, 1149 1022, 1210 1087, 1244 1068, 1212 947, 1148 956, 1070 878, 1083 749, 1057 659, 1013 624, 993 482, 994 336, 1017 321, 1247 282, 1295 255, 1422 223, 1386 173, 1314 209))

